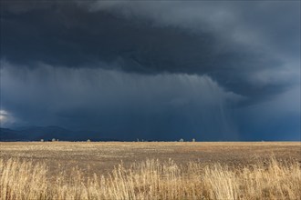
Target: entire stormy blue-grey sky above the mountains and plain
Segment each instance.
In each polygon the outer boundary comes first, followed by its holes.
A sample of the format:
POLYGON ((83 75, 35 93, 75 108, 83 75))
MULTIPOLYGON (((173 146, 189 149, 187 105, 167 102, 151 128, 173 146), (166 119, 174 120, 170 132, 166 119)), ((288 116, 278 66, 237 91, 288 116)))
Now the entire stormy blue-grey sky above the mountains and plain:
POLYGON ((300 140, 300 1, 1 0, 1 127, 300 140))

